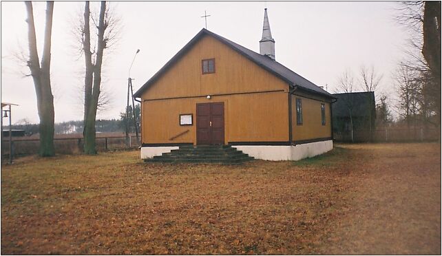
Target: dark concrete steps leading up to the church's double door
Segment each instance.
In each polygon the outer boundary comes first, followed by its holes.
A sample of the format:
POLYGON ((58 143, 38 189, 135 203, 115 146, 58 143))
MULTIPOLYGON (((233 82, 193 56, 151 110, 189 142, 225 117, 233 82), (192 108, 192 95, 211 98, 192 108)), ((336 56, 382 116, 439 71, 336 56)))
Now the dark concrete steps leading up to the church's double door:
POLYGON ((145 162, 195 162, 195 163, 219 163, 219 164, 242 164, 254 158, 229 145, 215 146, 182 146, 173 149, 161 156, 146 159, 145 162))

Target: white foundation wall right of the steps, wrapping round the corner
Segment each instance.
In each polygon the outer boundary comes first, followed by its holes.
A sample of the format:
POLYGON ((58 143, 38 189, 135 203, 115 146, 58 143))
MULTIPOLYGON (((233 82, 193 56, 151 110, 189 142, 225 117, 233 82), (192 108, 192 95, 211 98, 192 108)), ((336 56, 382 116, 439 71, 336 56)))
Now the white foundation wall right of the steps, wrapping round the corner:
POLYGON ((311 142, 295 146, 232 146, 256 159, 280 161, 301 160, 333 149, 333 140, 311 142))

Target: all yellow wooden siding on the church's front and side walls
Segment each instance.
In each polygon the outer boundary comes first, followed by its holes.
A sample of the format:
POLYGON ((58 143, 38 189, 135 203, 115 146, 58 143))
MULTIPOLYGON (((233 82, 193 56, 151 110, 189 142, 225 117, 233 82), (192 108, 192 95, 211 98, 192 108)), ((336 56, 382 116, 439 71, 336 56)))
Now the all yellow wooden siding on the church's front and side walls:
MULTIPOLYGON (((225 143, 286 142, 287 93, 288 84, 282 79, 213 37, 203 36, 143 92, 143 143, 196 144, 196 103, 209 102, 224 102, 225 143), (215 73, 203 75, 201 61, 209 58, 215 58, 215 73), (180 114, 193 114, 193 125, 180 126, 180 114)), ((321 101, 322 97, 311 100, 303 96, 291 96, 293 140, 331 137, 330 103, 321 101), (296 97, 302 98, 301 126, 296 125, 296 97), (326 104, 325 126, 321 124, 321 103, 326 104)))

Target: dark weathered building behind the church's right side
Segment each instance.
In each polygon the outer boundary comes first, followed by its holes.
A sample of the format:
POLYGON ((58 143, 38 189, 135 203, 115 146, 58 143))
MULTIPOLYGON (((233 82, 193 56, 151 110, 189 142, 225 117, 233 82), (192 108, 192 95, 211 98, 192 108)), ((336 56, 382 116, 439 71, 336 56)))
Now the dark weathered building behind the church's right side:
POLYGON ((332 104, 333 138, 336 141, 370 141, 375 131, 375 92, 351 92, 333 94, 337 98, 332 104), (350 119, 351 114, 351 119, 350 119))

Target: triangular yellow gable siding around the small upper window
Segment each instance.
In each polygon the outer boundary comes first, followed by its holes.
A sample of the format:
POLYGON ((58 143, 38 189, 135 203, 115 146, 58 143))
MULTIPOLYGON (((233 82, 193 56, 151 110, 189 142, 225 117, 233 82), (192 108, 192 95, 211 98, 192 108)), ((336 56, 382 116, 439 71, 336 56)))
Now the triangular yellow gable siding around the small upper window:
POLYGON ((288 89, 286 82, 227 45, 204 36, 143 92, 142 99, 175 98, 288 89), (202 74, 201 61, 215 58, 215 73, 202 74))

